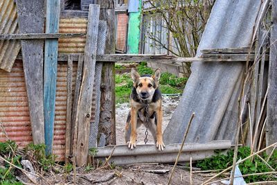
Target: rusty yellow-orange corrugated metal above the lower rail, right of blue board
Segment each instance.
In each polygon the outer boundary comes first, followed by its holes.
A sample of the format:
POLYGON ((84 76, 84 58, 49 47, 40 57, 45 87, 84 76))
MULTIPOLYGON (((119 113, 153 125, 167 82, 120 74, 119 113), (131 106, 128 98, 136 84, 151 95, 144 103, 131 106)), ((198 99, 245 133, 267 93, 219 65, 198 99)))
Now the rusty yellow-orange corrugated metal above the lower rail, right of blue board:
MULTIPOLYGON (((60 33, 86 33, 87 19, 62 18, 60 19, 60 33)), ((86 37, 72 37, 59 39, 59 53, 84 53, 86 37)))

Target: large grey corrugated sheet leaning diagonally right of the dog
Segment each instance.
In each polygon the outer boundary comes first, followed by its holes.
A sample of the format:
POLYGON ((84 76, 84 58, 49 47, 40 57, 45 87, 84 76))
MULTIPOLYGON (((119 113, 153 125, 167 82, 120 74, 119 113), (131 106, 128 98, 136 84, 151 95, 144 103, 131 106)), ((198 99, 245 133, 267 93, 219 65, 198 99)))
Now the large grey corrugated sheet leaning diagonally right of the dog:
MULTIPOLYGON (((204 30, 201 49, 240 48, 251 42, 260 0, 217 0, 204 30)), ((184 94, 163 134, 165 143, 234 141, 244 62, 194 62, 184 94)))

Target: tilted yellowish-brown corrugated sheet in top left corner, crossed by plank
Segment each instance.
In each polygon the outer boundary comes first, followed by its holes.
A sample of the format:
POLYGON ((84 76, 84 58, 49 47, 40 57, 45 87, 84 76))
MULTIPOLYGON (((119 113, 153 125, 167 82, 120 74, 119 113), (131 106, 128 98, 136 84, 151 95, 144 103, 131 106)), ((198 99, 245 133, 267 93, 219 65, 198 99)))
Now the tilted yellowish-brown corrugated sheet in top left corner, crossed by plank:
MULTIPOLYGON (((19 33, 14 0, 0 1, 0 34, 19 33)), ((20 49, 19 40, 0 40, 0 69, 9 71, 20 49)))

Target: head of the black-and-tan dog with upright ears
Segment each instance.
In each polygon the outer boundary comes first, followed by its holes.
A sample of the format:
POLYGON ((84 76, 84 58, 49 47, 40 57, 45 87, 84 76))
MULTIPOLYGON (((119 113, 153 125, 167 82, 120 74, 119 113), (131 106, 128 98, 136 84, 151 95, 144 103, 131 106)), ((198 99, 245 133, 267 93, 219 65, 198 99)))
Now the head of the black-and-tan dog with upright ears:
POLYGON ((155 90, 159 87, 161 69, 157 69, 153 76, 140 76, 138 71, 132 68, 131 76, 139 98, 142 100, 152 100, 155 90))

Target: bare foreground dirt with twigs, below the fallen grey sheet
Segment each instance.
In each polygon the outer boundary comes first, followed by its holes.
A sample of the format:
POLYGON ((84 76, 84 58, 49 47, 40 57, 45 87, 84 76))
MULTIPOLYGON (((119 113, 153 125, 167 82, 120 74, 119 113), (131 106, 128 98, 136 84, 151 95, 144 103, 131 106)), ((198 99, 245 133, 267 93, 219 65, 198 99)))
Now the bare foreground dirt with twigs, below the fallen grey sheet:
MULTIPOLYGON (((172 166, 163 164, 140 164, 132 166, 118 166, 114 170, 91 170, 84 172, 84 168, 77 168, 76 184, 101 185, 160 185, 168 184, 172 166)), ((202 184, 204 177, 193 174, 193 184, 202 184)), ((32 184, 24 175, 20 175, 23 182, 32 184)), ((73 184, 73 173, 48 173, 38 184, 73 184)), ((27 183, 26 183, 27 184, 27 183)), ((190 184, 190 171, 177 166, 172 176, 172 185, 190 184)))

